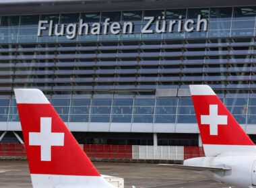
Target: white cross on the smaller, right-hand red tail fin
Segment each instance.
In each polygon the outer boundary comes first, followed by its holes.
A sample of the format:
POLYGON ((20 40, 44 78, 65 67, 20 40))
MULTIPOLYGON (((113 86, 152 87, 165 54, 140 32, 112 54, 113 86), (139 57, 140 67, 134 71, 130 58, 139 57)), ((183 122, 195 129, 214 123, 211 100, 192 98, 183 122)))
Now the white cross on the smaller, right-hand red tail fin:
POLYGON ((210 114, 201 115, 201 124, 210 125, 210 135, 218 135, 218 125, 228 125, 228 115, 218 115, 218 105, 210 105, 210 114))

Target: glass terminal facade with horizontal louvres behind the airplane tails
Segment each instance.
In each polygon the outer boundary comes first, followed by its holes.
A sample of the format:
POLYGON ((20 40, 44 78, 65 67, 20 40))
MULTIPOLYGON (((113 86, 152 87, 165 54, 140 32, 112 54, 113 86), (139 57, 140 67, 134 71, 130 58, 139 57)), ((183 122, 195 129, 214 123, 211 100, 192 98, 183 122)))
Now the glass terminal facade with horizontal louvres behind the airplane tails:
POLYGON ((33 87, 44 91, 73 131, 198 133, 191 97, 156 97, 156 90, 207 84, 255 134, 255 16, 256 7, 1 16, 0 129, 20 129, 12 91, 33 87), (197 28, 198 15, 207 30, 185 31, 189 19, 197 28), (145 17, 154 17, 152 33, 141 32, 145 17), (79 34, 77 28, 73 38, 49 36, 51 20, 66 31, 81 19, 91 27, 107 18, 121 27, 131 21, 133 31, 108 28, 104 34, 102 27, 100 34, 79 34), (38 36, 42 20, 49 22, 38 36), (172 32, 156 32, 165 20, 166 28, 177 21, 172 32))

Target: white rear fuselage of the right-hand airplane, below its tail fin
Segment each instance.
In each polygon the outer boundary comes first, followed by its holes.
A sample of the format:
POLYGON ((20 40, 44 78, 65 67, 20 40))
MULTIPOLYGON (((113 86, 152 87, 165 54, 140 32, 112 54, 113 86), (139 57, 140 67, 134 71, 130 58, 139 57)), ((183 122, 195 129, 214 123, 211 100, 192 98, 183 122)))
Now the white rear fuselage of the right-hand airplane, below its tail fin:
POLYGON ((200 173, 236 187, 256 187, 256 156, 205 156, 187 159, 184 165, 226 167, 231 170, 201 171, 200 173))

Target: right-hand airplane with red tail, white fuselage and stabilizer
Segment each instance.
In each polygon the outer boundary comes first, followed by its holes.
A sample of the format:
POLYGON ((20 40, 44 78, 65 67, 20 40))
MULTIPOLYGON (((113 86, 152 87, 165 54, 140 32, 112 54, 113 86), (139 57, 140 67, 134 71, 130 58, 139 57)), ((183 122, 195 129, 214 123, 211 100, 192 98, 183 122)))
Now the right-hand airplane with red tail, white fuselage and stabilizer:
POLYGON ((256 146, 208 85, 190 85, 205 157, 184 165, 218 182, 256 187, 256 146))

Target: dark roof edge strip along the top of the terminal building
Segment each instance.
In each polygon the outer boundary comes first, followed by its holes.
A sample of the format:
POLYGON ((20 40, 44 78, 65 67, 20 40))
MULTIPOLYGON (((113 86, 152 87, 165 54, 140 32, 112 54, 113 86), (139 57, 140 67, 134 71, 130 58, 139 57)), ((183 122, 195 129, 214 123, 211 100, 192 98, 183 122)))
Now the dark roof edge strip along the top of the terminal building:
POLYGON ((2 0, 1 15, 61 13, 79 11, 120 11, 135 9, 175 9, 187 7, 230 7, 256 5, 255 0, 2 0))

